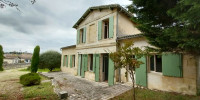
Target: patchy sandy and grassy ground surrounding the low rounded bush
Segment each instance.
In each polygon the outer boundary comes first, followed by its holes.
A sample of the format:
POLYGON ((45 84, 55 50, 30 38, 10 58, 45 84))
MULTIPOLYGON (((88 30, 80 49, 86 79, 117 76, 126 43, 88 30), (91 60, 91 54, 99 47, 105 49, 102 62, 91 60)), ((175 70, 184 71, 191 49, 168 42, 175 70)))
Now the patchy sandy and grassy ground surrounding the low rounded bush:
MULTIPOLYGON (((23 68, 24 69, 24 68, 23 68)), ((0 73, 0 100, 57 100, 58 96, 53 91, 49 79, 41 76, 40 85, 23 87, 19 83, 19 77, 28 71, 21 69, 10 69, 0 73)))

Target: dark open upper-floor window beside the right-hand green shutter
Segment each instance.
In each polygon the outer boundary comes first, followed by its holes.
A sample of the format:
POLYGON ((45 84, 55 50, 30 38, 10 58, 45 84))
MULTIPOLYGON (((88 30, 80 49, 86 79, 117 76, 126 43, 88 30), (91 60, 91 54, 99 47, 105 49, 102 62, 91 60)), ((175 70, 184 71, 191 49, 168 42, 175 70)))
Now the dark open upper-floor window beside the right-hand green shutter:
POLYGON ((109 19, 103 20, 103 39, 109 38, 109 19))

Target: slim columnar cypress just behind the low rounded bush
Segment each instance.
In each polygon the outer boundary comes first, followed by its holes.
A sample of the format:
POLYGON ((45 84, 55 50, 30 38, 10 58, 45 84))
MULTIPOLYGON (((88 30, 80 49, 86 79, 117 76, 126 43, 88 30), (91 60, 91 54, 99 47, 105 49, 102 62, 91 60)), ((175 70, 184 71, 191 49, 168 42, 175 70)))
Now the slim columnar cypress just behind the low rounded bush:
POLYGON ((38 70, 39 56, 40 56, 40 46, 36 46, 31 61, 31 73, 36 73, 38 70))

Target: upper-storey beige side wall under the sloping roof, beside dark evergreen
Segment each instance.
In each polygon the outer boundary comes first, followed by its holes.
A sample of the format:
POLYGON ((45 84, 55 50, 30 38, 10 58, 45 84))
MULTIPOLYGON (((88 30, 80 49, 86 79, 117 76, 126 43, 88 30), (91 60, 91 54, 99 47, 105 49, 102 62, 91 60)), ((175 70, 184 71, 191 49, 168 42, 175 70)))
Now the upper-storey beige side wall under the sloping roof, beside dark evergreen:
POLYGON ((130 18, 122 13, 118 13, 118 37, 140 33, 130 18))

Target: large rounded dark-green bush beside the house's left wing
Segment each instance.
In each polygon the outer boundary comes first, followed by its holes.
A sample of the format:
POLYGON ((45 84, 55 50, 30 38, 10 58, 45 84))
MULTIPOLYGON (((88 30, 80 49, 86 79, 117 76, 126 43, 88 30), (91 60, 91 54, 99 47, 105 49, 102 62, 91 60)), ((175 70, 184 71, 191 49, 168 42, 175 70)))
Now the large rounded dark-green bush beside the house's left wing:
POLYGON ((40 68, 48 68, 52 71, 61 66, 61 54, 57 51, 46 51, 40 55, 40 68))

